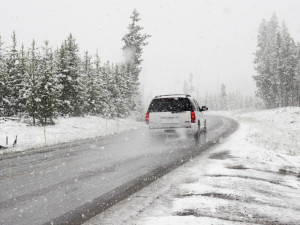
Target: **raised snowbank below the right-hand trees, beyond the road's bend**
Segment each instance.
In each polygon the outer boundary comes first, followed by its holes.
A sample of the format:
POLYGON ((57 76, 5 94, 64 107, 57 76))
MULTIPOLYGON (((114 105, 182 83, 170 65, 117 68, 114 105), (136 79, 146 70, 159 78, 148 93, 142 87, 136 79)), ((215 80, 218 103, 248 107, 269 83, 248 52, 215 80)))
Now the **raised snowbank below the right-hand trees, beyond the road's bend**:
POLYGON ((252 143, 276 152, 300 155, 300 107, 242 114, 238 121, 250 124, 252 143))

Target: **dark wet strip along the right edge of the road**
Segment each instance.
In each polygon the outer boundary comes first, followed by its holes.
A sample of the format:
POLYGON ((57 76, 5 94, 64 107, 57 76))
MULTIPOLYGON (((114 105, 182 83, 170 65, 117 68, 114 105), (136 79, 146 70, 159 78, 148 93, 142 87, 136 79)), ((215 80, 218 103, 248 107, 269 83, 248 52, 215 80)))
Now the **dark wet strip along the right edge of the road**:
MULTIPOLYGON (((226 118, 226 117, 223 117, 226 118)), ((45 223, 45 225, 53 225, 53 224, 82 224, 92 217, 98 215, 99 213, 105 211, 110 208, 114 204, 126 199, 133 193, 143 189, 153 181, 162 177, 163 175, 169 173, 171 170, 183 165, 191 158, 201 154, 203 150, 206 150, 219 142, 221 138, 226 138, 233 134, 238 128, 239 123, 233 119, 226 118, 231 122, 231 128, 227 131, 224 131, 218 138, 218 140, 206 142, 202 147, 201 151, 191 153, 187 156, 181 157, 176 161, 170 162, 164 166, 158 167, 144 175, 141 175, 135 178, 132 181, 129 181, 118 188, 94 199, 92 202, 88 202, 83 204, 82 206, 75 208, 74 210, 65 213, 55 219, 45 223)))

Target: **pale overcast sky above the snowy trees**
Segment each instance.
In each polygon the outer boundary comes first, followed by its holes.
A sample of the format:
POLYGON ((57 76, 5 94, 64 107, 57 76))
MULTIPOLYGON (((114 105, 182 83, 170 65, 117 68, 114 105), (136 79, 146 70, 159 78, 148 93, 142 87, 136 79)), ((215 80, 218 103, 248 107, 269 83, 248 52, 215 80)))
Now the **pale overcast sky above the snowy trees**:
POLYGON ((16 31, 18 45, 49 40, 54 47, 72 33, 81 52, 103 61, 123 60, 121 39, 133 9, 152 35, 144 49, 146 96, 182 93, 194 75, 198 95, 228 90, 254 94, 253 53, 259 24, 273 12, 300 41, 298 0, 0 0, 0 35, 5 46, 16 31))

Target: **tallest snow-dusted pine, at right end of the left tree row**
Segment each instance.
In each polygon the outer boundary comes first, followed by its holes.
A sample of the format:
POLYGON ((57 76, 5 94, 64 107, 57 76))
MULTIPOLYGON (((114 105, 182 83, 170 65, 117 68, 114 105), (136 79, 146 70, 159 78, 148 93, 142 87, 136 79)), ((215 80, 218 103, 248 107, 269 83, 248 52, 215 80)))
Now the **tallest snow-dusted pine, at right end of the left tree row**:
POLYGON ((128 93, 128 106, 130 110, 137 109, 139 98, 139 75, 142 70, 142 53, 143 47, 148 44, 146 39, 150 37, 148 34, 142 34, 142 27, 138 25, 140 21, 139 13, 136 9, 133 10, 130 16, 131 23, 128 26, 128 33, 122 38, 124 41, 123 54, 125 57, 127 77, 130 79, 127 83, 130 84, 128 93))

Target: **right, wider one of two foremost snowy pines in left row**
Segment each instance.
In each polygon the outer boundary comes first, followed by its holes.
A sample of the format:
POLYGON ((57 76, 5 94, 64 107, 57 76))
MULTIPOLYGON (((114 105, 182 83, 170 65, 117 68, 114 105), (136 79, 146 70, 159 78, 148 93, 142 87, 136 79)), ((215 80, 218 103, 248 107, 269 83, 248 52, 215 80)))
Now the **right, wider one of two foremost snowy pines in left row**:
POLYGON ((54 124, 53 118, 57 114, 57 98, 59 95, 58 80, 55 74, 54 59, 49 42, 45 41, 42 48, 42 58, 39 67, 38 117, 44 125, 54 124))

